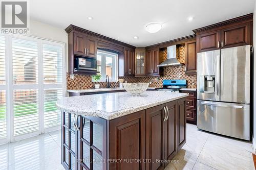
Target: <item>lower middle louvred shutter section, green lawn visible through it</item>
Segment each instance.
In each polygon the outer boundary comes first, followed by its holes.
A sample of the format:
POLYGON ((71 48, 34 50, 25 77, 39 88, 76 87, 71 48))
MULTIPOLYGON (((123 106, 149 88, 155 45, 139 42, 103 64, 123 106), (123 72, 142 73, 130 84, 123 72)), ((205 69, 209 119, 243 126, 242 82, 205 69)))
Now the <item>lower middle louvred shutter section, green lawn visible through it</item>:
POLYGON ((38 130, 37 89, 14 90, 13 107, 14 136, 38 130))

